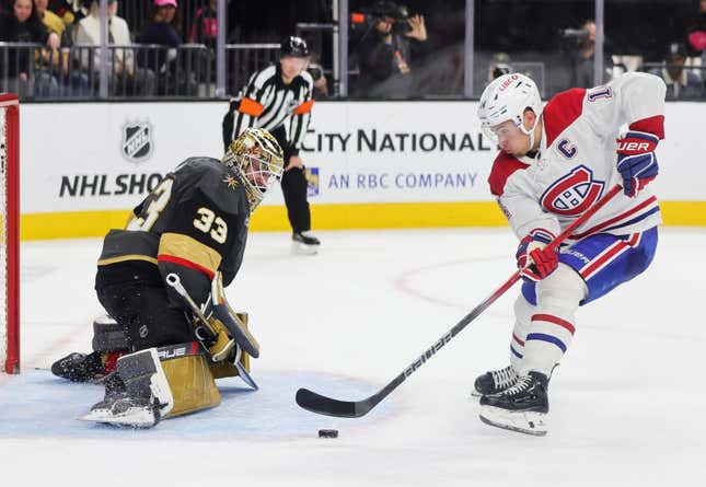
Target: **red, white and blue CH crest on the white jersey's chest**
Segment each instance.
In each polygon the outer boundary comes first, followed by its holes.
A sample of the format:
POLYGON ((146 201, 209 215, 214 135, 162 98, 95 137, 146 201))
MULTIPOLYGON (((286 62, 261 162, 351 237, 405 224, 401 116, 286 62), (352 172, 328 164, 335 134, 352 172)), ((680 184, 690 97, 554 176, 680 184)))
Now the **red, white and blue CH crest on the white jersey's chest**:
POLYGON ((604 187, 604 182, 593 181, 590 169, 579 165, 549 186, 540 202, 553 213, 581 214, 601 197, 604 187))

